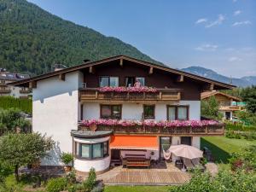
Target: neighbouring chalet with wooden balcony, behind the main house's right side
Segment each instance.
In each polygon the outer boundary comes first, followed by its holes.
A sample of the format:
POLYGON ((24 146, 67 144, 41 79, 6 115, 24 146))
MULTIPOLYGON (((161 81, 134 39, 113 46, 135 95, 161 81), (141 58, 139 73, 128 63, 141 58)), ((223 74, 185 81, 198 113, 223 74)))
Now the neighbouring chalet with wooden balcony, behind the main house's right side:
POLYGON ((240 98, 215 90, 201 93, 201 100, 207 100, 211 96, 214 96, 219 102, 219 111, 224 114, 224 119, 232 120, 233 113, 244 108, 240 98))

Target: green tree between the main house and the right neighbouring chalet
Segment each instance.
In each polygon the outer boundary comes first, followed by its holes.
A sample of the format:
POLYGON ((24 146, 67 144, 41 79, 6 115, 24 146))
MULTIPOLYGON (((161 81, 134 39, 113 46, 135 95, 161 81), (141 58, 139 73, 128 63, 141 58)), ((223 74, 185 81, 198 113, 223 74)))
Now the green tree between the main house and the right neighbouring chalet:
POLYGON ((201 115, 211 119, 221 119, 218 112, 219 103, 214 96, 210 96, 206 101, 201 101, 201 115))

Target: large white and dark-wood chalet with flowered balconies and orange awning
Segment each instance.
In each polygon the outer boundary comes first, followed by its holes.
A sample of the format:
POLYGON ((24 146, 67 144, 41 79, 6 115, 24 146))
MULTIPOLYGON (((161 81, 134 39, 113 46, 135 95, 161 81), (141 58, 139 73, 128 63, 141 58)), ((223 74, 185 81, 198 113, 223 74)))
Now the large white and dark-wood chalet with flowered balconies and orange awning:
POLYGON ((200 148, 201 136, 224 134, 223 124, 201 121, 201 92, 234 87, 125 55, 12 85, 32 89, 32 129, 56 142, 41 166, 63 166, 64 151, 74 154, 78 172, 90 167, 104 172, 127 154, 160 160, 162 148, 171 144, 200 148), (136 82, 137 88, 132 87, 136 82), (166 120, 177 121, 167 125, 166 120))

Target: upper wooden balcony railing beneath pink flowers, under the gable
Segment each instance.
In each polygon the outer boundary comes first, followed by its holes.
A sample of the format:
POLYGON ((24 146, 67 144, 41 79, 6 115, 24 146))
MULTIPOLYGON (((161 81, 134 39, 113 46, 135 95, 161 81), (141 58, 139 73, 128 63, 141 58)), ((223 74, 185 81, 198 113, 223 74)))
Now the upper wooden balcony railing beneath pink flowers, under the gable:
POLYGON ((101 92, 96 88, 79 90, 81 102, 122 101, 122 102, 172 102, 179 101, 181 90, 158 89, 156 92, 101 92))

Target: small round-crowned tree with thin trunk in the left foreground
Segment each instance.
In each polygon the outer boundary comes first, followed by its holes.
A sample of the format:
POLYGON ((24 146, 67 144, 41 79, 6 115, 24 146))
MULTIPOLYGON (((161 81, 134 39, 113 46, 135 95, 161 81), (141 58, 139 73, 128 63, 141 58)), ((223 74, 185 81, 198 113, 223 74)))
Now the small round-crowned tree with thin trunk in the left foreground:
POLYGON ((53 148, 53 140, 39 133, 13 134, 0 137, 0 161, 15 167, 15 177, 19 180, 18 169, 43 158, 53 148))

